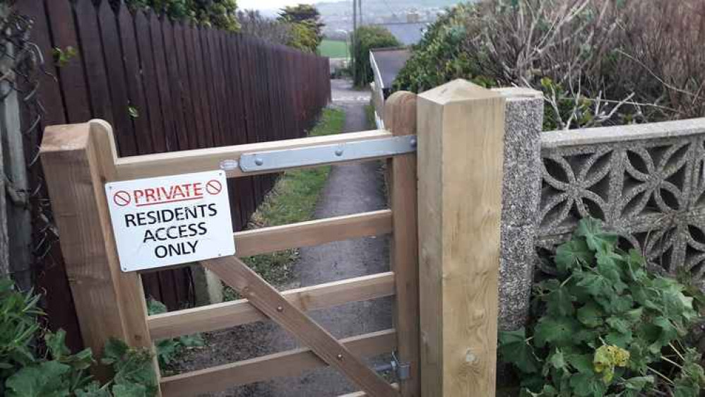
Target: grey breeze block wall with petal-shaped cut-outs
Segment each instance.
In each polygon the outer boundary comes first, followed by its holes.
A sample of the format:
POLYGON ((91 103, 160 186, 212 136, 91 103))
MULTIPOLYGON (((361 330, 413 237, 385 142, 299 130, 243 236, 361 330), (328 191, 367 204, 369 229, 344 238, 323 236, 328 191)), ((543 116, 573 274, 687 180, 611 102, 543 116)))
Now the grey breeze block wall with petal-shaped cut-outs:
POLYGON ((547 132, 536 244, 552 250, 591 216, 651 268, 705 273, 705 119, 547 132))

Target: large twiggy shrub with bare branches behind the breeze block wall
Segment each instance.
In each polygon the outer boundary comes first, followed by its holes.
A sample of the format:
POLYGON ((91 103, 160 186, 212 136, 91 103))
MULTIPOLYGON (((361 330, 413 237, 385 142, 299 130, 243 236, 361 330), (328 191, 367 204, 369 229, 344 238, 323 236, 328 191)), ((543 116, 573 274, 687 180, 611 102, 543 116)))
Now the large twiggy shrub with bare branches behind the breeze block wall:
POLYGON ((705 2, 483 0, 451 8, 396 90, 455 78, 543 92, 545 129, 705 116, 705 2))

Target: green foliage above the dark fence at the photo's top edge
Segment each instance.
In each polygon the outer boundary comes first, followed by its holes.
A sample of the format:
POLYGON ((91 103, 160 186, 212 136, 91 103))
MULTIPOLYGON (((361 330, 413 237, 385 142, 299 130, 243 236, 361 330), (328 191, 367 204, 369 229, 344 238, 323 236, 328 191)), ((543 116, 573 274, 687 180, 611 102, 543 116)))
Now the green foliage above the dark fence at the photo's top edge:
POLYGON ((150 8, 175 20, 190 20, 230 31, 240 27, 236 0, 125 0, 125 3, 131 8, 150 8))

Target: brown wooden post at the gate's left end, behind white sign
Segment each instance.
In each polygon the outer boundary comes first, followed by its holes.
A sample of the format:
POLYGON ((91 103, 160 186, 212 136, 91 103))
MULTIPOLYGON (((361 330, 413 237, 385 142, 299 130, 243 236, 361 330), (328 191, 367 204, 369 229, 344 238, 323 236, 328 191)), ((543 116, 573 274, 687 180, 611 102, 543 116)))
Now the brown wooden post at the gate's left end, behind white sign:
POLYGON ((141 278, 120 271, 105 198, 117 158, 110 125, 49 126, 40 155, 84 345, 96 356, 111 337, 151 348, 141 278))

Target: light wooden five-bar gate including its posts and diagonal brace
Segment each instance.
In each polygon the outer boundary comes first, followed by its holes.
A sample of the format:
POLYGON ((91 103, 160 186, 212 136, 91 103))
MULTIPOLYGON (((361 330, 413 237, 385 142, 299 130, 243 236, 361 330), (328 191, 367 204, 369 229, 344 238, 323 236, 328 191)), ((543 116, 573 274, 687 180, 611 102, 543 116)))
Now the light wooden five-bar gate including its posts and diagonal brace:
MULTIPOLYGON (((117 157, 111 127, 100 120, 47 128, 42 164, 85 345, 100 352, 107 338, 117 337, 152 348, 154 340, 269 318, 307 348, 162 377, 162 395, 196 396, 326 365, 362 390, 355 396, 493 395, 504 100, 465 81, 418 98, 419 109, 417 95, 390 97, 387 130, 129 158, 117 157), (148 316, 139 273, 120 271, 105 183, 219 169, 237 178, 244 168, 234 165, 247 155, 276 150, 395 139, 415 148, 416 139, 403 136, 416 135, 417 122, 418 167, 413 150, 353 159, 336 150, 341 161, 388 158, 389 209, 233 234, 239 257, 390 234, 389 272, 278 292, 235 256, 210 259, 201 264, 244 299, 148 316), (464 168, 470 165, 478 170, 464 168), (352 338, 336 340, 305 313, 389 296, 394 328, 352 338), (394 384, 362 362, 389 352, 401 369, 394 384)), ((339 161, 326 161, 332 162, 339 161)))

